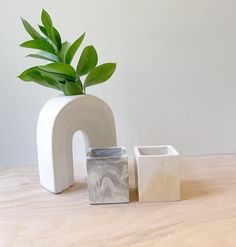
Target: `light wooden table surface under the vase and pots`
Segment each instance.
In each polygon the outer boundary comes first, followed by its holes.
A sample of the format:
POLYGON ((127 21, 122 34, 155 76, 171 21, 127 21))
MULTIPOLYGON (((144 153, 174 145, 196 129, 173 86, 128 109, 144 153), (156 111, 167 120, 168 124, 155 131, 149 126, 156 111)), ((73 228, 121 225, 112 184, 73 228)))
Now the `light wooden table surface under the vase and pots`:
POLYGON ((131 203, 90 206, 84 166, 58 195, 37 167, 0 167, 0 246, 236 246, 236 156, 182 157, 179 202, 138 203, 130 177, 131 203))

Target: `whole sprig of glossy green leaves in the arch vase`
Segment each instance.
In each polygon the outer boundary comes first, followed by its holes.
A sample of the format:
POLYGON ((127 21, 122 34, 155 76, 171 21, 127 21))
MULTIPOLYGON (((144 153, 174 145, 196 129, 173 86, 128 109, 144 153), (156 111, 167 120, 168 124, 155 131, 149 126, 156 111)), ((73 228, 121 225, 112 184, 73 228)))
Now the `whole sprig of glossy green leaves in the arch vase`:
POLYGON ((105 63, 97 66, 98 55, 90 45, 83 49, 76 69, 71 62, 82 44, 85 33, 74 43, 62 42, 61 35, 54 27, 49 14, 43 9, 42 25, 36 31, 28 21, 22 18, 22 23, 32 37, 32 40, 22 43, 25 48, 40 50, 37 54, 27 57, 44 59, 51 63, 35 66, 25 70, 18 77, 23 81, 33 81, 42 86, 63 91, 65 95, 85 94, 86 88, 107 81, 116 69, 115 63, 105 63), (85 77, 82 82, 82 77, 85 77))

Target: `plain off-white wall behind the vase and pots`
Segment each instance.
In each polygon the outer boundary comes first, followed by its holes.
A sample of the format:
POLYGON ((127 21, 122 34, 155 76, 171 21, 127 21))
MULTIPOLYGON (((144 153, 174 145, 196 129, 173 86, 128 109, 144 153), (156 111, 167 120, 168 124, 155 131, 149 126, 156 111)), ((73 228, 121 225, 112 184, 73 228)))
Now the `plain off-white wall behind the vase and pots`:
POLYGON ((56 91, 16 78, 35 64, 18 44, 20 16, 41 8, 63 37, 86 30, 100 61, 117 62, 109 83, 88 93, 106 100, 120 145, 173 144, 182 154, 236 148, 236 1, 8 0, 0 9, 0 164, 36 163, 39 111, 56 91))

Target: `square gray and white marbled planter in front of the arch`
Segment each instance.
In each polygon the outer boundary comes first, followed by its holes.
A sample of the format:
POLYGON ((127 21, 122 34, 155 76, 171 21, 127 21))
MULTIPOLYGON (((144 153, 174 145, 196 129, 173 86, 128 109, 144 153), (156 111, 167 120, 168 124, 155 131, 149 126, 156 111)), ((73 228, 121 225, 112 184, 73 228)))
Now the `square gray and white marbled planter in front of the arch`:
POLYGON ((91 149, 87 155, 87 175, 90 204, 129 202, 125 148, 91 149))

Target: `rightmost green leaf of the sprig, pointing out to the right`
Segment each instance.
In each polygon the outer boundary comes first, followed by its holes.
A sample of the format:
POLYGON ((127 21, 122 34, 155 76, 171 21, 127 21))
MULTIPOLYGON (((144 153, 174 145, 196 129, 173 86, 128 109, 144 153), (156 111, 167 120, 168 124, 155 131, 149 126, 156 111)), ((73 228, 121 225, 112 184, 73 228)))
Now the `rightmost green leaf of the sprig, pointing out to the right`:
POLYGON ((116 69, 115 63, 105 63, 94 68, 86 77, 84 86, 90 87, 107 81, 116 69))

